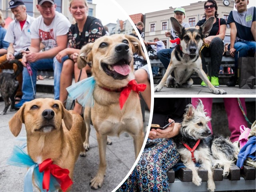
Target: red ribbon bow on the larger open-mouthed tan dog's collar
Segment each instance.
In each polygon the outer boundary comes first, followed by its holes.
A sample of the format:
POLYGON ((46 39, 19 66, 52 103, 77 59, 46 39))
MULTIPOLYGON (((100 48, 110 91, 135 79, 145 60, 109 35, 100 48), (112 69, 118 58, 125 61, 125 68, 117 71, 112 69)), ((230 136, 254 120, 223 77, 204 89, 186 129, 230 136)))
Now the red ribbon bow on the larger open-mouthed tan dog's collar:
POLYGON ((120 109, 123 108, 124 103, 126 102, 131 90, 136 91, 139 94, 139 91, 144 91, 146 89, 146 84, 137 84, 135 79, 131 80, 128 85, 121 91, 119 104, 120 109))

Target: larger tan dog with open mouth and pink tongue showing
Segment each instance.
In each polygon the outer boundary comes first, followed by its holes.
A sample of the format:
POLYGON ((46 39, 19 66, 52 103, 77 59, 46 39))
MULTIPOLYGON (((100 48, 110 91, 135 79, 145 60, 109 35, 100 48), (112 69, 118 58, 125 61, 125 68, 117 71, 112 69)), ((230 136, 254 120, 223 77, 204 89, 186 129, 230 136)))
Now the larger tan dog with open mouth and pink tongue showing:
POLYGON ((120 94, 129 82, 134 80, 133 53, 145 57, 140 41, 129 35, 115 34, 98 38, 93 44, 87 44, 80 51, 78 68, 92 63, 92 75, 96 85, 93 92, 94 106, 86 107, 85 148, 89 147, 90 120, 97 132, 100 154, 98 173, 91 180, 90 186, 97 189, 102 186, 106 172, 107 136, 119 136, 128 132, 134 139, 137 158, 144 141, 143 120, 140 98, 136 91, 131 91, 124 106, 120 109, 120 94))

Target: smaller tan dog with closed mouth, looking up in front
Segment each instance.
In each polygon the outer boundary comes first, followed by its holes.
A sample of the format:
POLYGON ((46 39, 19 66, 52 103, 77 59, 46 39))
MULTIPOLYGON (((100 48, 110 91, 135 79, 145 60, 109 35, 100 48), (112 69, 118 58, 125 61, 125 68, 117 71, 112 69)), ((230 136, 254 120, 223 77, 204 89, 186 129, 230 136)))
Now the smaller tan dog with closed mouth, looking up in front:
POLYGON ((54 164, 68 169, 72 179, 79 153, 85 156, 86 127, 82 117, 66 110, 59 100, 39 98, 24 103, 9 121, 14 136, 20 133, 22 123, 26 127, 28 155, 32 160, 41 164, 50 158, 54 164))

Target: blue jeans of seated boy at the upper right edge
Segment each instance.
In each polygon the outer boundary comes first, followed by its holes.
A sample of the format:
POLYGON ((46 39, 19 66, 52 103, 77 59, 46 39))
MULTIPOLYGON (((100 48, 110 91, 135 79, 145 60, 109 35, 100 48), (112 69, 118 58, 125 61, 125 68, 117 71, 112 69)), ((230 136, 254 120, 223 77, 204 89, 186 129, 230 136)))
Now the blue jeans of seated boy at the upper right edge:
MULTIPOLYGON (((235 67, 234 67, 234 72, 235 72, 235 76, 236 76, 237 75, 237 68, 238 68, 238 52, 239 52, 239 57, 246 57, 249 54, 252 54, 254 56, 255 48, 256 48, 256 42, 255 41, 235 42, 234 48, 236 49, 235 67)), ((230 50, 230 44, 228 45, 228 50, 230 50)))

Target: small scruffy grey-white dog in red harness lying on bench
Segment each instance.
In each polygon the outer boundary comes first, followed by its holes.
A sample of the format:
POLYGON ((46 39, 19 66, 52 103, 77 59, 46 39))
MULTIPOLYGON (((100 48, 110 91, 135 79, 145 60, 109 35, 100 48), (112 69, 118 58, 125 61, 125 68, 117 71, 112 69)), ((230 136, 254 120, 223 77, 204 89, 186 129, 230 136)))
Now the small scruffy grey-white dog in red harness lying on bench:
POLYGON ((195 166, 195 163, 199 162, 200 166, 208 171, 208 191, 213 192, 215 184, 212 168, 223 168, 223 176, 228 176, 235 150, 228 138, 211 135, 207 125, 209 121, 200 99, 196 109, 189 104, 181 123, 180 135, 175 141, 182 162, 192 170, 192 182, 197 186, 202 183, 195 166))

